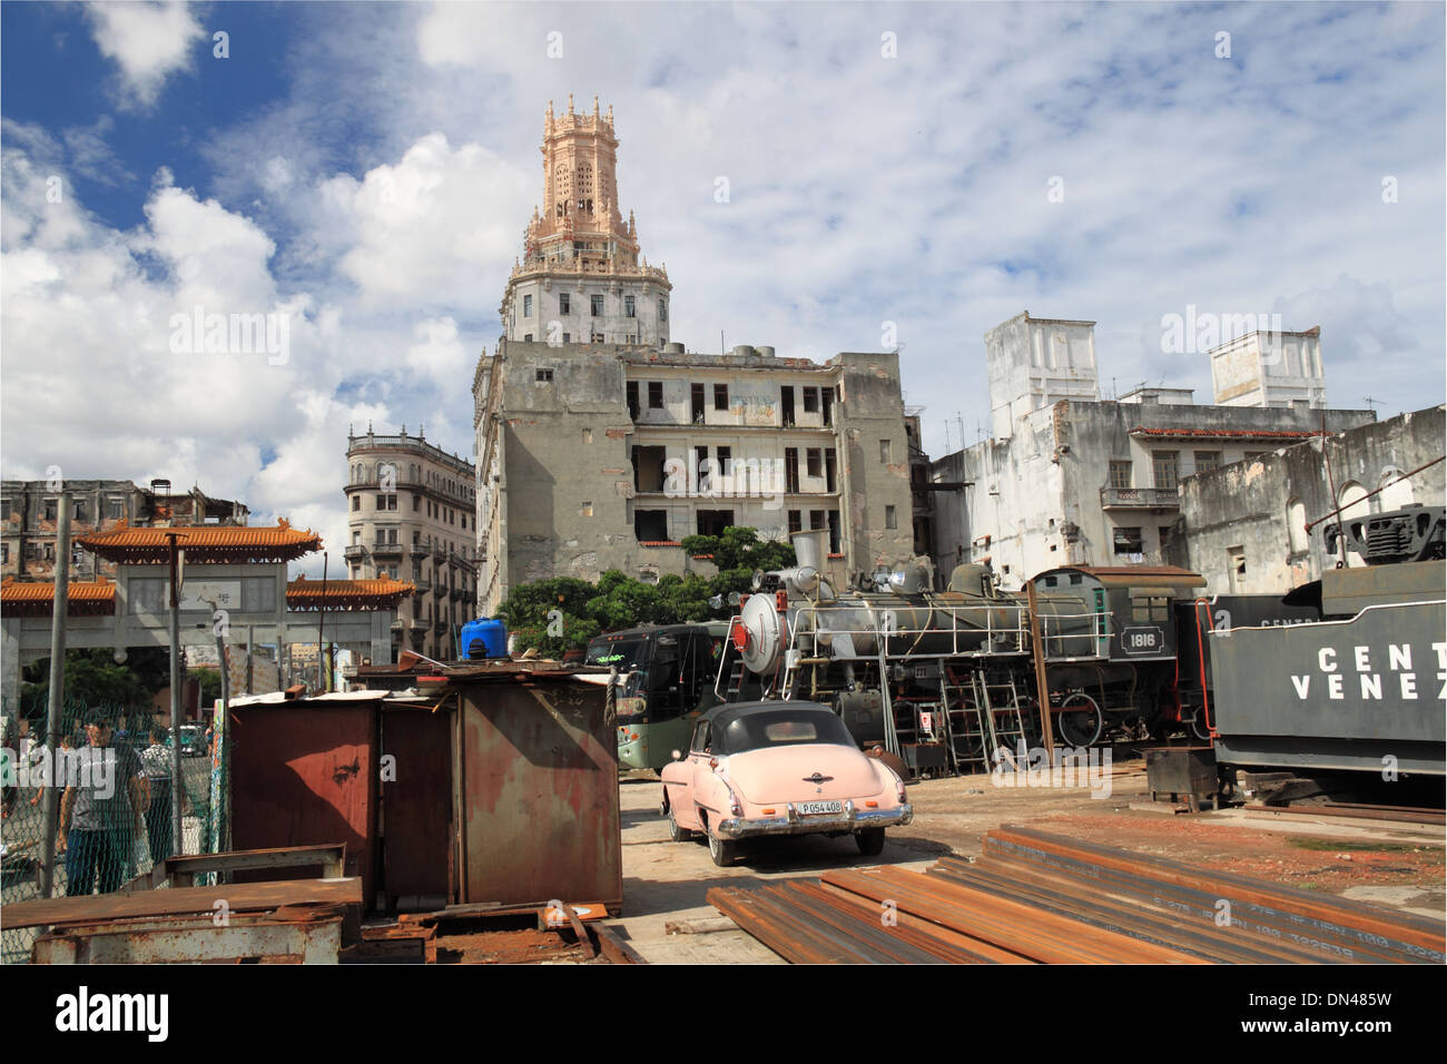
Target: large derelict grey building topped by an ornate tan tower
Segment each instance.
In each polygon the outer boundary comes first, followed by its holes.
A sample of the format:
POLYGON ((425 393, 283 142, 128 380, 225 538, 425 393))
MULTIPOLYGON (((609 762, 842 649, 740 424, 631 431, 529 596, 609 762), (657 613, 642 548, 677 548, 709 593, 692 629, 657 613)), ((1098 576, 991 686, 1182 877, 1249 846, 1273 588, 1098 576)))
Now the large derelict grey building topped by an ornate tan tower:
POLYGON ((680 541, 728 525, 826 528, 841 570, 907 560, 899 356, 670 343, 671 287, 622 223, 616 146, 611 110, 548 106, 544 208, 473 379, 479 611, 550 576, 712 573, 680 541))

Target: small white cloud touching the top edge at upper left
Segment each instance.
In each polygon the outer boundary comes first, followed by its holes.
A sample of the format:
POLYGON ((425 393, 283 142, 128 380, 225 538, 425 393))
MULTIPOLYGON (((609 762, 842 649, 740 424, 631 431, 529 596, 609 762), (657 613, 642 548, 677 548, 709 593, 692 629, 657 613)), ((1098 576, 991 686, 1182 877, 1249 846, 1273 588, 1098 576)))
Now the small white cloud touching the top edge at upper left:
POLYGON ((205 36, 181 3, 93 3, 91 36, 120 68, 126 97, 149 109, 166 78, 191 65, 191 46, 205 36))

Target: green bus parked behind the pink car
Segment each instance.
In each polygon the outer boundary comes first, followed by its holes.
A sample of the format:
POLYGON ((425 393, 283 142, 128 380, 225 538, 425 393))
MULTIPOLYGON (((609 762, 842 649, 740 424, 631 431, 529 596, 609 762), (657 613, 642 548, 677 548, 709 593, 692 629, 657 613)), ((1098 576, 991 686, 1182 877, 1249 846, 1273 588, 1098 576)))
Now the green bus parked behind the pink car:
POLYGON ((687 746, 695 718, 718 702, 713 683, 726 621, 664 624, 598 636, 587 664, 618 666, 618 766, 658 770, 687 746))

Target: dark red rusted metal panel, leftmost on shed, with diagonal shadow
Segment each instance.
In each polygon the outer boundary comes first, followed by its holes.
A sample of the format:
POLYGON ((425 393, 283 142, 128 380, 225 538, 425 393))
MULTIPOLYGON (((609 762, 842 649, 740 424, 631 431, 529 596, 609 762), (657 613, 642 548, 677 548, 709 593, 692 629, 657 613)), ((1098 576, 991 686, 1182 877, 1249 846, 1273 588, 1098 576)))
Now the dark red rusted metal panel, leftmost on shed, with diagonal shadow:
MULTIPOLYGON (((232 847, 344 843, 346 874, 376 898, 375 702, 252 704, 232 709, 232 847)), ((285 871, 239 880, 294 879, 285 871)))

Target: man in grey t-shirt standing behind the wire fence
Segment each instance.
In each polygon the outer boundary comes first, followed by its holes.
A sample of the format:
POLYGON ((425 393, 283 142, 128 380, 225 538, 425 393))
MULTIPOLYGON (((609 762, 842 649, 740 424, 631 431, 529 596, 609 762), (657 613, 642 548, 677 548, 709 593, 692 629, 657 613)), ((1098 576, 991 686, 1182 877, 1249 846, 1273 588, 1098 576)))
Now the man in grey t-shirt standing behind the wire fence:
MULTIPOLYGON (((97 718, 85 728, 88 746, 71 761, 69 779, 61 801, 61 822, 69 824, 65 845, 65 893, 88 895, 119 890, 132 861, 136 829, 136 776, 130 759, 111 747, 109 718, 97 718)), ((142 773, 140 783, 145 783, 142 773)))

